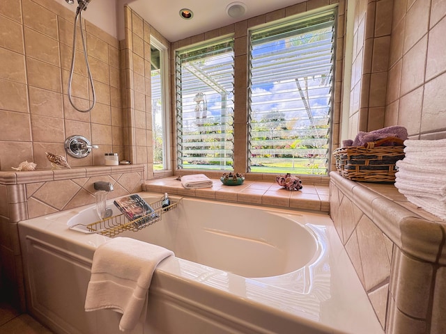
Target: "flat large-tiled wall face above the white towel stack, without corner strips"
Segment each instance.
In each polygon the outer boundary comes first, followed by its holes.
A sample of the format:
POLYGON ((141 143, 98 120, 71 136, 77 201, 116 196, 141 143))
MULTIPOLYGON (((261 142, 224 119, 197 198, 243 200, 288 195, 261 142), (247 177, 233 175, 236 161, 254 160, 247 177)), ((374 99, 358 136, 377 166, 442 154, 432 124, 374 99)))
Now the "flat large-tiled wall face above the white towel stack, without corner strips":
POLYGON ((446 138, 446 3, 394 1, 385 125, 446 138))

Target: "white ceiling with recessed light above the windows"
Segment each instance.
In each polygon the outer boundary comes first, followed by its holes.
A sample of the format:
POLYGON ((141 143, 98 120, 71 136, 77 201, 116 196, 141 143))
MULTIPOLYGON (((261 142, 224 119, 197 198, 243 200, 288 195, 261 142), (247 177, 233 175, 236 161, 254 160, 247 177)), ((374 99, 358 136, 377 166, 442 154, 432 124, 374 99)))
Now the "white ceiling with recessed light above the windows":
MULTIPOLYGON (((239 0, 236 0, 237 2, 239 0)), ((247 6, 243 17, 233 19, 226 14, 226 6, 235 0, 130 0, 128 5, 170 42, 176 42, 227 24, 242 21, 272 10, 291 6, 305 0, 240 0, 247 6), (179 11, 192 10, 194 17, 185 20, 179 11)))

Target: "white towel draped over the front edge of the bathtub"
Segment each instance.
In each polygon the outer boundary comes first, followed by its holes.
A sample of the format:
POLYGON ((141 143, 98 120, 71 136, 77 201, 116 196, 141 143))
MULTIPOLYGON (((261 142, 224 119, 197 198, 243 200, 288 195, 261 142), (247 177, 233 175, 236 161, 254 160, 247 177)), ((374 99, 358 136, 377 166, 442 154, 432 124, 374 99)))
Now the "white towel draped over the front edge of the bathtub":
POLYGON ((155 267, 171 250, 136 239, 117 237, 95 250, 85 310, 122 313, 119 329, 133 329, 146 319, 148 287, 155 267))

